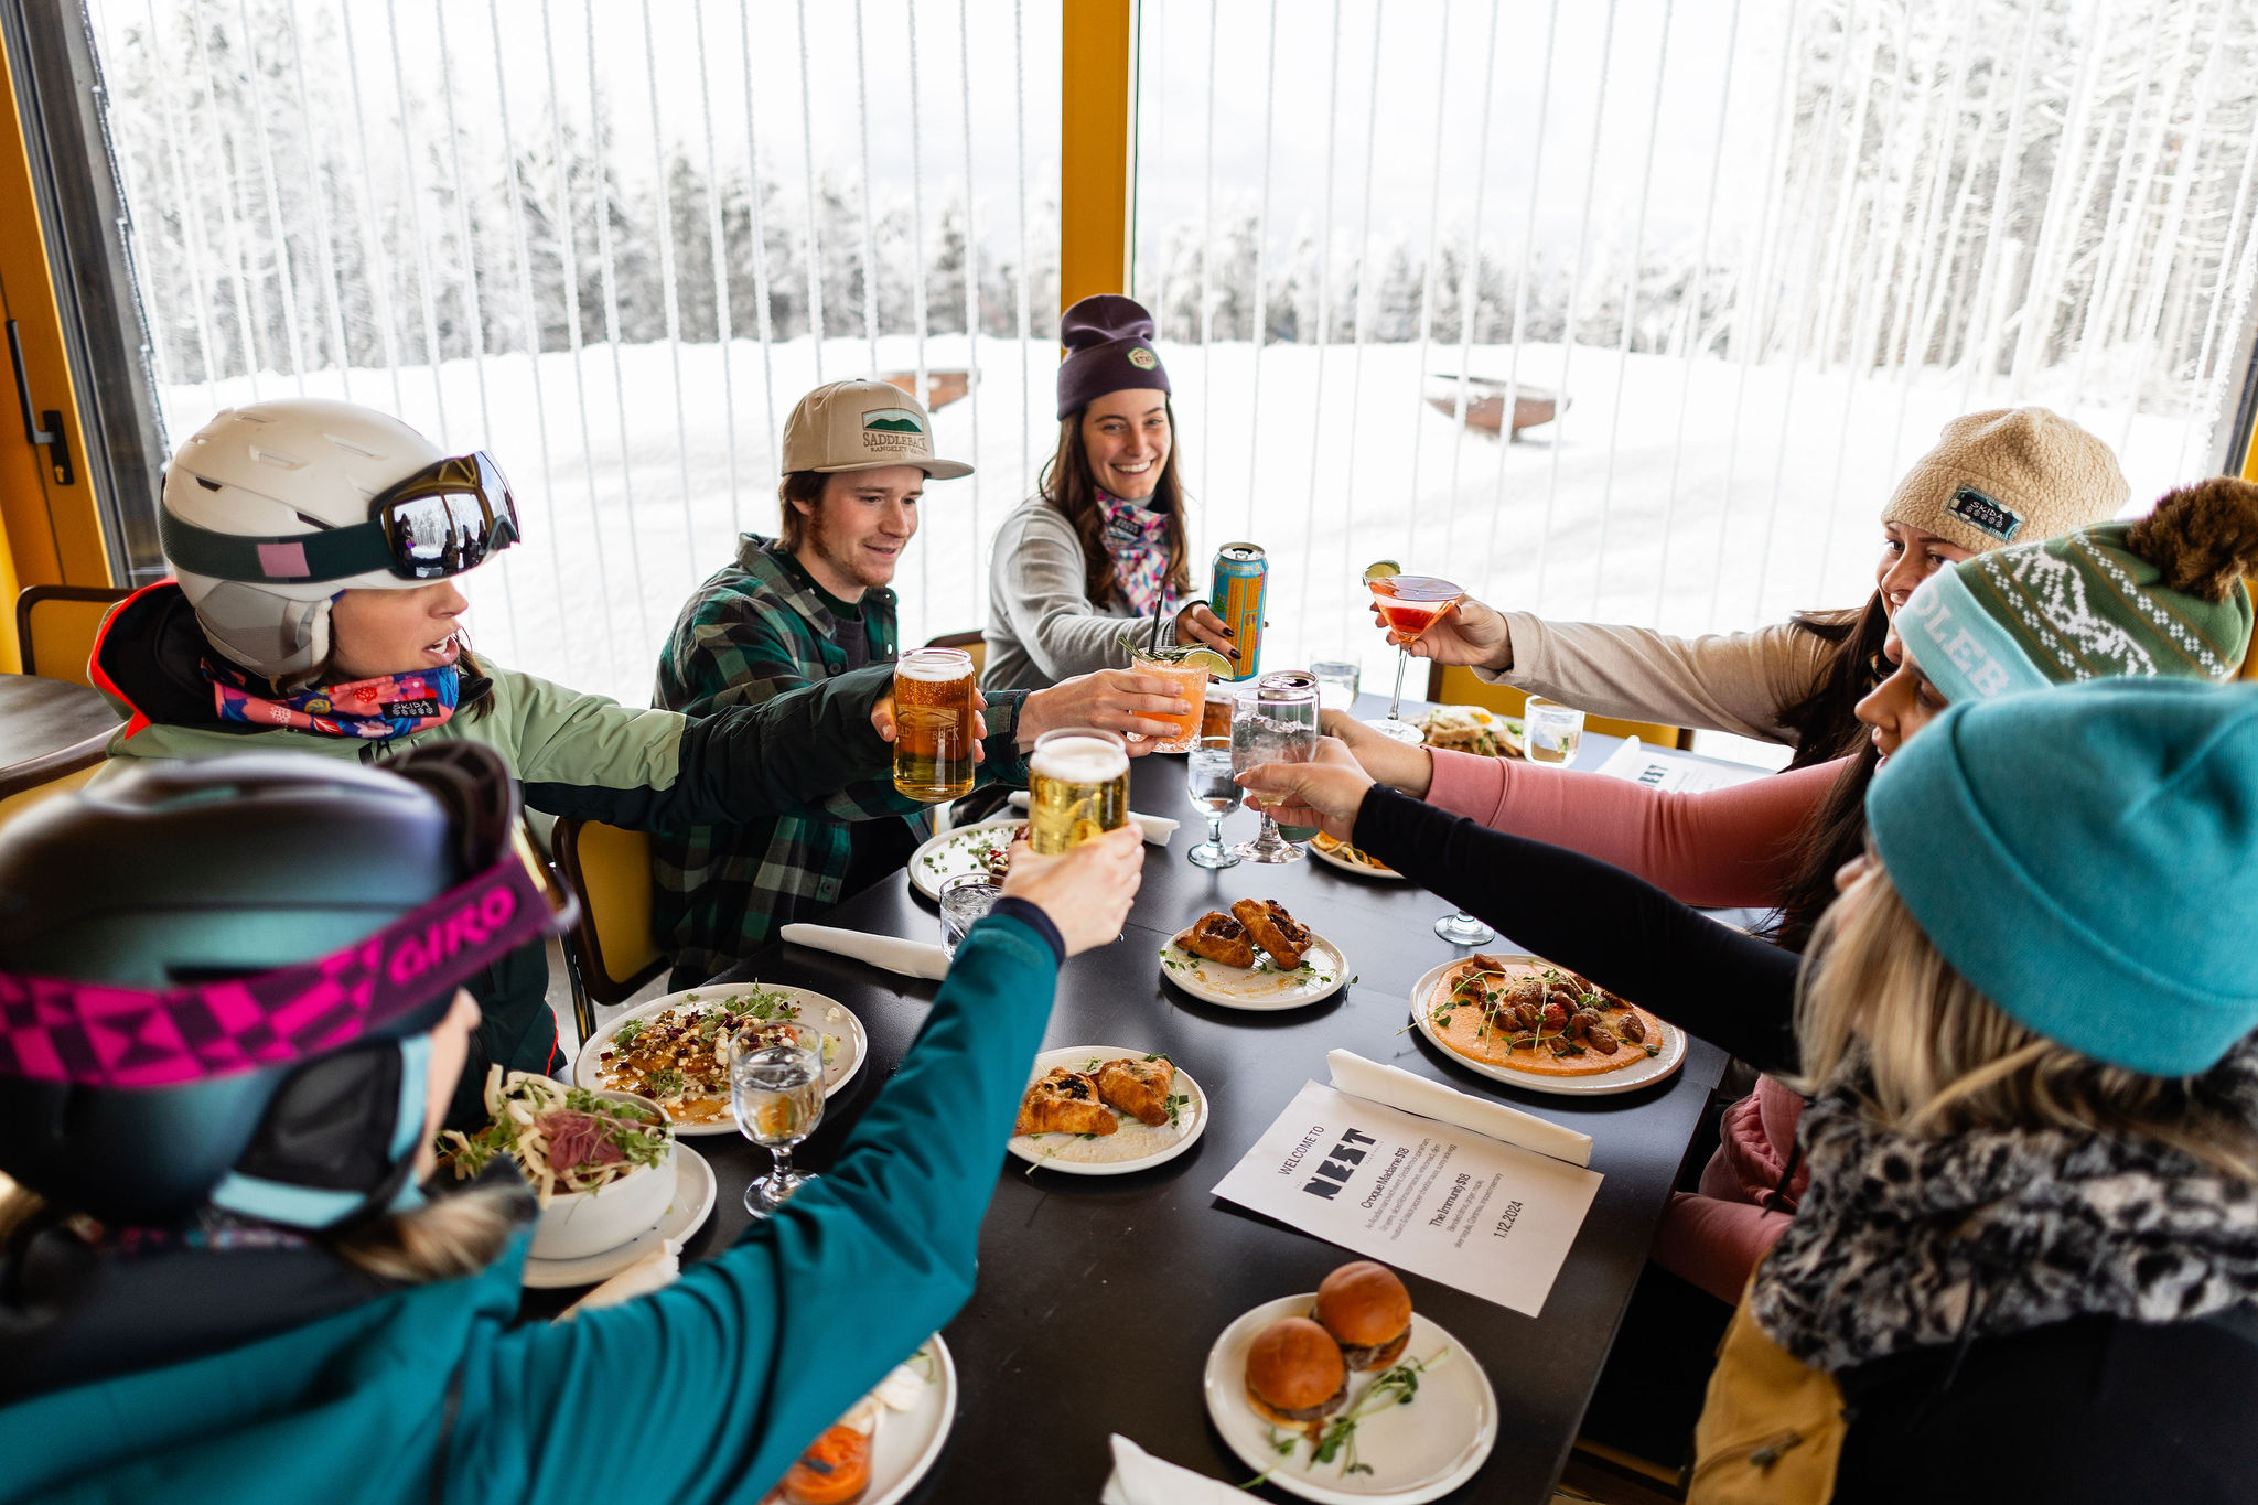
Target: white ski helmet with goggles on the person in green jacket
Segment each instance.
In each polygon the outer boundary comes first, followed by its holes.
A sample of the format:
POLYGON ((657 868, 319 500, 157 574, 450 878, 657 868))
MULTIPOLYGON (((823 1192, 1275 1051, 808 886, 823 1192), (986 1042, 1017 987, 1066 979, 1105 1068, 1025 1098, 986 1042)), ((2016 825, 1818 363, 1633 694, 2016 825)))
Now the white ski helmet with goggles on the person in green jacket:
MULTIPOLYGON (((226 408, 181 445, 165 467, 158 533, 212 648, 255 675, 298 684, 330 659, 330 602, 341 591, 411 591, 515 542, 517 514, 499 481, 485 456, 449 460, 388 413, 327 397, 278 397, 226 408), (404 544, 391 546, 429 564, 400 569, 377 553, 384 544, 361 535, 391 539, 391 526, 368 528, 386 494, 447 467, 490 476, 501 494, 485 510, 488 523, 501 508, 508 528, 488 528, 490 539, 481 535, 472 553, 449 553, 445 562, 411 528, 404 544), (348 528, 355 533, 312 544, 348 528), (323 548, 348 539, 355 548, 323 560, 323 548), (339 557, 352 564, 339 566, 339 557)), ((474 483, 431 490, 481 492, 474 483)))

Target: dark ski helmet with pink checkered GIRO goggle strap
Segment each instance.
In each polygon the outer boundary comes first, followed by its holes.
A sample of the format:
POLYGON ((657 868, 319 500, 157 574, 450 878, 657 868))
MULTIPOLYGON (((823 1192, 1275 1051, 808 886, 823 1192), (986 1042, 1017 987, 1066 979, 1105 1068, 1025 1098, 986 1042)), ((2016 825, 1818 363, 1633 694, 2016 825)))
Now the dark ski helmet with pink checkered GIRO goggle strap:
MULTIPOLYGON (((429 1031, 476 948, 409 968, 388 993, 377 968, 400 970, 415 945, 402 923, 481 873, 488 894, 497 873, 522 891, 546 882, 524 855, 501 754, 461 740, 382 767, 303 754, 145 763, 9 821, 0 1171, 135 1225, 208 1200, 303 1227, 395 1205, 422 1133, 429 1031), (314 977, 307 963, 339 986, 280 1009, 251 997, 262 977, 314 977), (145 1040, 174 1079, 97 1074, 131 1070, 145 1040)), ((553 898, 540 914, 513 909, 495 945, 569 918, 553 898)))

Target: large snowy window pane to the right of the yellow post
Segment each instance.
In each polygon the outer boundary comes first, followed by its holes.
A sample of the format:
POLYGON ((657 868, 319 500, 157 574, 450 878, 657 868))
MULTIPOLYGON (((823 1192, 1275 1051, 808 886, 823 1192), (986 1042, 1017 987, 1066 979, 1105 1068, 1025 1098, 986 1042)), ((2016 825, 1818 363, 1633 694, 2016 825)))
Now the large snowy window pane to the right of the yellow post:
MULTIPOLYGON (((2134 501, 2249 372, 2242 0, 1145 0, 1136 291, 1208 533, 1678 632, 1872 591, 1960 413, 2134 501), (1499 424, 1520 411, 1520 442, 1499 424), (1472 417, 1472 422, 1465 422, 1472 417)), ((2224 420, 2224 422, 2222 422, 2224 420)))

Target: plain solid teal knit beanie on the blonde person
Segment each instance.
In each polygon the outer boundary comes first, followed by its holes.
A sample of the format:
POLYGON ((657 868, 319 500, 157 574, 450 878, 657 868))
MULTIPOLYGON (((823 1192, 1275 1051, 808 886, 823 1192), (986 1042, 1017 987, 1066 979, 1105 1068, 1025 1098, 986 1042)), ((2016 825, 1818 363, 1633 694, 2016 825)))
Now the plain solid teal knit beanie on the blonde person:
POLYGON ((1962 702, 1865 815, 1937 952, 2041 1036, 2188 1076, 2258 1029, 2258 686, 1962 702))

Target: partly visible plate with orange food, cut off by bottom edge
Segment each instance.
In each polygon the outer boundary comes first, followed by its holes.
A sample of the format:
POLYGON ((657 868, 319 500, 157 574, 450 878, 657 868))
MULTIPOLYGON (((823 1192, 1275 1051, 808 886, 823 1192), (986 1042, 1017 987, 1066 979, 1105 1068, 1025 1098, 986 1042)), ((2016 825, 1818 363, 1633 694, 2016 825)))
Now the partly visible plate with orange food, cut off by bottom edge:
POLYGON ((957 1419, 957 1365, 939 1334, 824 1428, 761 1505, 894 1505, 933 1469, 957 1419))

